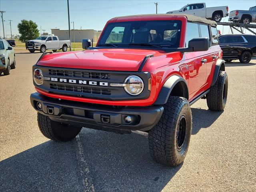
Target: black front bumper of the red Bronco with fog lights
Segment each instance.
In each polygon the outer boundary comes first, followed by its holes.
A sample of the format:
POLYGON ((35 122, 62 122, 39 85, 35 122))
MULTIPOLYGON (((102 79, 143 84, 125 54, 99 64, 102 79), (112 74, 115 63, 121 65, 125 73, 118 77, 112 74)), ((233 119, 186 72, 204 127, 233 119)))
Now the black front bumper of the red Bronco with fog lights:
POLYGON ((88 104, 49 98, 38 93, 30 95, 34 109, 51 120, 106 131, 130 133, 131 130, 148 131, 160 120, 163 106, 121 107, 88 104), (42 110, 37 103, 40 102, 42 110), (129 115, 134 122, 127 124, 124 117, 129 115))

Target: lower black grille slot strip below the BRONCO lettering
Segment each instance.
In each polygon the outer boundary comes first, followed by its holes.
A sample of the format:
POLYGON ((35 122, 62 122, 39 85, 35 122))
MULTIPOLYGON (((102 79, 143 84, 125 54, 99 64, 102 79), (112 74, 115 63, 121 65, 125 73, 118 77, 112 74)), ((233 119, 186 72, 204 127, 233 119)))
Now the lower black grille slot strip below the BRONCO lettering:
POLYGON ((111 90, 109 89, 89 87, 89 86, 72 86, 72 85, 65 85, 65 84, 50 83, 50 88, 55 90, 64 90, 64 91, 72 91, 72 92, 111 95, 111 90))

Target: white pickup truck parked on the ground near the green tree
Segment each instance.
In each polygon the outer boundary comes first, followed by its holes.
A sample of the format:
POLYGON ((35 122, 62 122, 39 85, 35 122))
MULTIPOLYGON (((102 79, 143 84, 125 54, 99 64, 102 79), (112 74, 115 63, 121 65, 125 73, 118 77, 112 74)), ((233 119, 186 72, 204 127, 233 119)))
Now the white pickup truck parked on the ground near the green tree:
POLYGON ((40 36, 35 40, 26 42, 26 49, 30 53, 35 52, 35 50, 40 50, 41 53, 44 53, 47 49, 51 49, 53 52, 62 49, 63 52, 66 52, 69 46, 70 40, 59 40, 57 36, 40 36))

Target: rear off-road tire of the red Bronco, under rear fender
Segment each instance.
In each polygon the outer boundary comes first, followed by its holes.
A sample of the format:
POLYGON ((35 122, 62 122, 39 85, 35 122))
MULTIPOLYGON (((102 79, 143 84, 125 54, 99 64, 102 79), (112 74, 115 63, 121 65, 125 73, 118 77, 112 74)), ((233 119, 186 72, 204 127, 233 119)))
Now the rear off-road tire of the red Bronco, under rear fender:
POLYGON ((228 76, 225 71, 220 71, 216 83, 211 86, 206 94, 207 106, 212 111, 223 111, 228 96, 228 76))

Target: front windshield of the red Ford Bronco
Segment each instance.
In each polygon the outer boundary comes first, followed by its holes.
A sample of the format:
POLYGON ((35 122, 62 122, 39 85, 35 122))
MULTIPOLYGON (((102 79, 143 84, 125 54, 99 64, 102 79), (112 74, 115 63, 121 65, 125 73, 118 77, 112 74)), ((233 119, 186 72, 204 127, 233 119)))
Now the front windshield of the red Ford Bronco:
POLYGON ((129 21, 115 22, 106 26, 98 46, 178 48, 181 21, 129 21))

